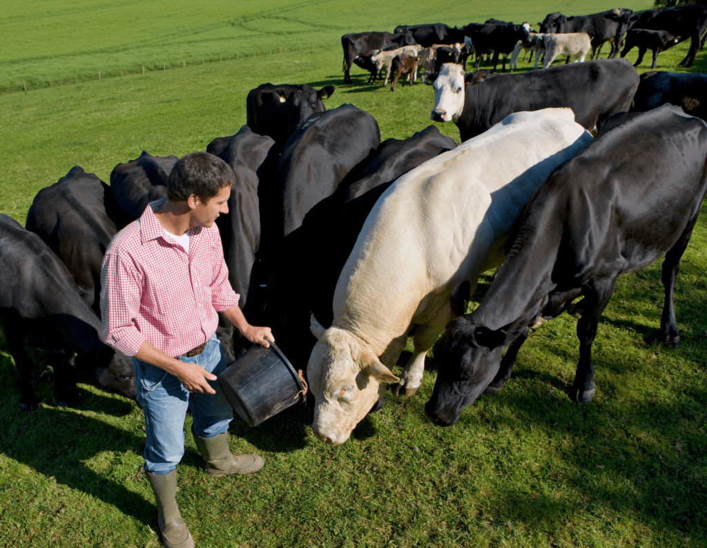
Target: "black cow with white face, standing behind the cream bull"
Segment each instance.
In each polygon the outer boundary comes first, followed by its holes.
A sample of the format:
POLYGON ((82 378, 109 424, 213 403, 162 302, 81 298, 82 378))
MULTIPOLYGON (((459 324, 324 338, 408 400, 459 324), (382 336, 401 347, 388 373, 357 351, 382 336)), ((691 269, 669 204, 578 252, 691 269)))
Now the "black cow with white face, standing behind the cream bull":
POLYGON ((525 74, 478 71, 468 76, 460 66, 446 64, 433 86, 430 118, 453 120, 466 141, 511 112, 548 107, 570 107, 578 124, 592 131, 609 116, 629 110, 638 73, 626 59, 551 66, 525 74))

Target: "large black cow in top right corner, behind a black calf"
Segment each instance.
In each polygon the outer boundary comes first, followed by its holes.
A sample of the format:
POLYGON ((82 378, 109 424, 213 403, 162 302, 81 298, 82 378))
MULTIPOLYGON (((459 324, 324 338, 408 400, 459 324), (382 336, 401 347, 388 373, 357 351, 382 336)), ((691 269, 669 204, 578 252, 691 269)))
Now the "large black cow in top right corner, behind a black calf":
POLYGON ((690 50, 680 62, 684 66, 692 66, 698 49, 701 48, 701 37, 707 29, 707 6, 689 4, 664 9, 649 9, 634 13, 631 17, 632 28, 648 30, 665 30, 678 37, 678 43, 690 39, 690 50))

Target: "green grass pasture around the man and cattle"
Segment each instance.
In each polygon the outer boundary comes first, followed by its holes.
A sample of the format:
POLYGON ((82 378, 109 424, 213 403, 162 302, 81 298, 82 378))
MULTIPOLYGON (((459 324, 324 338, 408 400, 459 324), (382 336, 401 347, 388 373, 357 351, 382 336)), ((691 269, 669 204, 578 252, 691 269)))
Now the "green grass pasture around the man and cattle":
MULTIPOLYGON (((343 85, 346 32, 490 16, 537 23, 553 11, 615 7, 604 0, 67 4, 2 0, 0 212, 21 223, 37 191, 74 165, 108 182, 117 163, 142 150, 182 156, 234 134, 245 124, 247 91, 266 81, 333 84, 327 107, 367 110, 382 139, 431 124, 428 86, 391 93, 366 83, 357 67, 354 83, 343 85), (166 70, 150 70, 163 62, 166 70), (136 69, 143 64, 144 74, 136 69), (18 91, 23 80, 27 93, 18 91)), ((686 49, 660 54, 658 70, 685 70, 677 64, 686 49)), ((699 52, 692 71, 707 72, 706 55, 699 52)), ((649 68, 647 59, 639 71, 649 68)), ((459 141, 453 124, 438 127, 459 141)), ((481 396, 448 429, 424 416, 436 376, 429 356, 418 394, 388 395, 341 447, 315 439, 304 405, 256 428, 236 418, 232 450, 266 461, 252 477, 207 476, 187 436, 177 501, 197 546, 707 547, 706 248, 702 216, 675 291, 677 350, 654 338, 660 264, 619 279, 594 345, 591 404, 566 395, 578 343, 575 320, 565 315, 532 332, 502 392, 481 396)), ((472 307, 490 282, 483 277, 472 307)), ((61 409, 51 371, 40 367, 42 403, 23 413, 4 346, 0 372, 0 546, 159 547, 140 471, 137 405, 86 376, 78 407, 61 409)))

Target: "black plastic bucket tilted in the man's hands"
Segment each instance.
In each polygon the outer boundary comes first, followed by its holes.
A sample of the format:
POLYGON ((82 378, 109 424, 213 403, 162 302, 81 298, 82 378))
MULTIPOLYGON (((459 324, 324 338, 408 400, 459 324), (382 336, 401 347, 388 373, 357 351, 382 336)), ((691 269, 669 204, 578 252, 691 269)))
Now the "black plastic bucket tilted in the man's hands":
POLYGON ((250 426, 305 401, 305 385, 272 342, 269 349, 251 346, 218 375, 218 384, 231 407, 250 426))

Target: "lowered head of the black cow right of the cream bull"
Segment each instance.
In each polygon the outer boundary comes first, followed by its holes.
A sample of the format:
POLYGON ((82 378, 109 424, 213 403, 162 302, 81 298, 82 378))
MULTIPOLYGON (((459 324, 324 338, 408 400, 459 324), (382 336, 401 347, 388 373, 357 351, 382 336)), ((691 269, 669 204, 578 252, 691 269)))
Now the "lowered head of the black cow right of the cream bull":
POLYGON ((451 426, 462 409, 486 390, 498 373, 506 332, 478 327, 458 317, 434 348, 437 380, 425 413, 438 426, 451 426))

